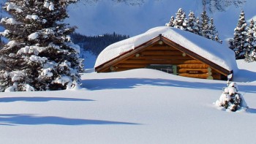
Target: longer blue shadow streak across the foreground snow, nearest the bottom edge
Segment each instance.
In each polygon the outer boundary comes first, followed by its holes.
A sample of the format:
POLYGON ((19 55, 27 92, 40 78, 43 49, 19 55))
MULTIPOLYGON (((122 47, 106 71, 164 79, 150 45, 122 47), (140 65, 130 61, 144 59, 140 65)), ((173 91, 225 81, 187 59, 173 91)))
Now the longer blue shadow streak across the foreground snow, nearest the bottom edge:
POLYGON ((119 121, 102 121, 90 119, 61 118, 56 116, 36 116, 29 114, 1 114, 0 125, 105 125, 105 124, 128 124, 137 125, 135 123, 119 122, 119 121))

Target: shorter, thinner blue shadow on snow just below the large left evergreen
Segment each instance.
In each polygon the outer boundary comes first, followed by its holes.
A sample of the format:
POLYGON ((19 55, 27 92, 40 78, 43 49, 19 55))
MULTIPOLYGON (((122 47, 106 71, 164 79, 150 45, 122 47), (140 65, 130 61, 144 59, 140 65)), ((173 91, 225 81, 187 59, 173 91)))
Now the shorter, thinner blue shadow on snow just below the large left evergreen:
POLYGON ((49 102, 49 101, 94 101, 91 99, 76 99, 63 97, 2 97, 0 102, 49 102))

